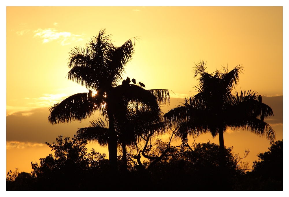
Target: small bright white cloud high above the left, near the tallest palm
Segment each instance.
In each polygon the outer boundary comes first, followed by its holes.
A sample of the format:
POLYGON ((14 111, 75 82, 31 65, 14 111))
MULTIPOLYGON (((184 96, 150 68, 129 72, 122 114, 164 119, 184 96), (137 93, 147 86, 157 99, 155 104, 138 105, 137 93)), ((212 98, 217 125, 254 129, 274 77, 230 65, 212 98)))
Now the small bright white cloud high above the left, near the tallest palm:
POLYGON ((58 32, 55 28, 38 29, 34 33, 34 37, 43 38, 43 43, 59 40, 61 45, 68 45, 71 42, 82 40, 81 35, 71 34, 70 32, 58 32))

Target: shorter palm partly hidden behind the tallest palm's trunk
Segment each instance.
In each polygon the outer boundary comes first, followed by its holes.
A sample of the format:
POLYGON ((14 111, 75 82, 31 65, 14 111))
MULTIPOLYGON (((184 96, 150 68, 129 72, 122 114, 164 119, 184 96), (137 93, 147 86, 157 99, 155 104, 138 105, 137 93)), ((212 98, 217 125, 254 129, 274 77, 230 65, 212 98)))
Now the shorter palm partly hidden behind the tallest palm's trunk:
MULTIPOLYGON (((127 170, 126 145, 135 144, 148 137, 151 132, 163 133, 167 124, 162 121, 160 108, 151 108, 139 102, 129 102, 126 113, 117 115, 114 119, 114 126, 117 133, 118 143, 121 144, 123 152, 123 167, 127 170)), ((98 142, 100 146, 108 145, 108 127, 99 118, 90 121, 90 126, 77 129, 77 137, 90 142, 98 142)))

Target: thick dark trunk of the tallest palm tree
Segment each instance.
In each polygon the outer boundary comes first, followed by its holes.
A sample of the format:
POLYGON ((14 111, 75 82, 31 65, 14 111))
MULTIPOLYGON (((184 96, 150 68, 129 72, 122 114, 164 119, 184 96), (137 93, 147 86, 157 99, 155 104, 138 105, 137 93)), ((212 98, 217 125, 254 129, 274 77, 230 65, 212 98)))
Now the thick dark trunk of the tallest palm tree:
POLYGON ((116 132, 114 130, 114 117, 112 110, 108 105, 108 155, 110 167, 117 171, 117 139, 116 132))

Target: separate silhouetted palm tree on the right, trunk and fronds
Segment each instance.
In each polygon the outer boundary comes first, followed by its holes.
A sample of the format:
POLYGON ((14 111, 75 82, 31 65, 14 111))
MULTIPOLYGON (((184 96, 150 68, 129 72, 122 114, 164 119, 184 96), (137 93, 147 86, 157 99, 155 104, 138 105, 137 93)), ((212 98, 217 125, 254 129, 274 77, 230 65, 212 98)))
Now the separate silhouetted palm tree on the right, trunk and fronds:
POLYGON ((272 116, 273 111, 257 100, 256 92, 232 94, 242 72, 240 65, 229 72, 224 67, 224 73, 217 70, 212 74, 205 72, 204 61, 195 65, 194 77, 200 75, 198 93, 187 98, 182 106, 166 113, 165 120, 178 124, 178 131, 183 136, 206 132, 210 132, 212 137, 219 135, 221 168, 225 167, 223 133, 227 128, 242 128, 266 136, 270 141, 275 139, 274 130, 264 119, 261 120, 262 116, 272 116))

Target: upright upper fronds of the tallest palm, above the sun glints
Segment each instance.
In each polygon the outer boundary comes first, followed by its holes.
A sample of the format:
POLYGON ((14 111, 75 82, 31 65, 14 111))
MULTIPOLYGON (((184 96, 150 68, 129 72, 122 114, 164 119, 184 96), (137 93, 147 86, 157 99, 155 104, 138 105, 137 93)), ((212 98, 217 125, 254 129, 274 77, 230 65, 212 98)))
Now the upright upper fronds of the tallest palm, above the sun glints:
POLYGON ((98 90, 107 85, 117 86, 123 77, 125 65, 134 55, 137 38, 127 40, 116 47, 111 42, 111 35, 105 35, 105 29, 91 39, 86 48, 75 47, 68 58, 68 79, 86 86, 87 89, 98 90))

